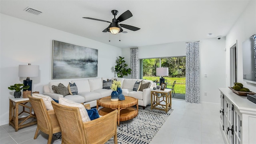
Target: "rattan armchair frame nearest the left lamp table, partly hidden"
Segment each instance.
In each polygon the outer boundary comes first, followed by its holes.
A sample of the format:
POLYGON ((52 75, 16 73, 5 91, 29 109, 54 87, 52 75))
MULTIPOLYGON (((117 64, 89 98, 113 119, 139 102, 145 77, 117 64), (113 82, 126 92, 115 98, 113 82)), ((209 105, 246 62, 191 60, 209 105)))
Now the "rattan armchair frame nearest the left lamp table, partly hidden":
POLYGON ((52 141, 52 134, 60 132, 60 126, 56 118, 54 110, 46 110, 44 101, 41 98, 34 98, 28 96, 30 103, 34 109, 37 119, 37 128, 34 139, 38 136, 38 131, 41 130, 45 134, 48 134, 48 142, 50 144, 52 141))

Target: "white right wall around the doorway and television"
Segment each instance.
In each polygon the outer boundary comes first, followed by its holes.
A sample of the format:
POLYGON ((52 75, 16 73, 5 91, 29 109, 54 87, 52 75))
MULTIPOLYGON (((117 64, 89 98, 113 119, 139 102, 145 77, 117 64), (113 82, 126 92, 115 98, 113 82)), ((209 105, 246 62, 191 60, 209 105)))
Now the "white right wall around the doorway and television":
POLYGON ((237 54, 238 54, 238 82, 242 83, 244 87, 256 92, 256 84, 244 82, 243 80, 243 59, 242 59, 242 42, 247 40, 250 36, 256 34, 256 1, 252 0, 245 8, 244 12, 238 18, 230 32, 226 36, 226 87, 230 86, 230 47, 237 40, 237 54))

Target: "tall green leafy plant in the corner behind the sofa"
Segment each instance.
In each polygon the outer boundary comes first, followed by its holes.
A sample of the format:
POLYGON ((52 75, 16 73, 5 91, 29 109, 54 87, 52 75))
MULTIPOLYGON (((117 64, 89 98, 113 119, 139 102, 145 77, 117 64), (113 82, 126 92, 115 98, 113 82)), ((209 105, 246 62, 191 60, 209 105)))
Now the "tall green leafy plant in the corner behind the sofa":
POLYGON ((128 74, 131 74, 132 69, 130 68, 126 69, 125 68, 126 66, 128 65, 125 63, 124 58, 119 56, 119 59, 116 60, 116 66, 115 66, 115 71, 118 78, 122 78, 123 76, 128 76, 128 74))

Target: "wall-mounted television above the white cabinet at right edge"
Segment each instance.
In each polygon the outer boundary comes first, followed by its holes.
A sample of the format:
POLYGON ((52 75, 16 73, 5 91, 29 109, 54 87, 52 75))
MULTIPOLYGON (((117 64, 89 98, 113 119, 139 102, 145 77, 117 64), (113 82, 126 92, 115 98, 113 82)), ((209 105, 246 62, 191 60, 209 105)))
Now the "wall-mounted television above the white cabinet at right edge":
POLYGON ((256 34, 243 42, 243 80, 256 84, 256 34))

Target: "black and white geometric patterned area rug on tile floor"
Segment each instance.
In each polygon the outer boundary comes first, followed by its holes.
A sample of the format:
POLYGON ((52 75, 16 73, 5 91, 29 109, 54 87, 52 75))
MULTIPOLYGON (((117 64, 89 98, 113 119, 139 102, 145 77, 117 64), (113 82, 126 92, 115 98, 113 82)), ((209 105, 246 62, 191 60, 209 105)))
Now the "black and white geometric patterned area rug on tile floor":
MULTIPOLYGON (((118 144, 149 144, 172 111, 173 109, 170 109, 166 113, 163 110, 151 110, 150 106, 145 110, 139 107, 138 116, 132 120, 120 122, 120 126, 117 126, 118 144)), ((61 139, 60 132, 53 136, 61 139)), ((108 140, 106 144, 114 144, 114 138, 108 140)))

